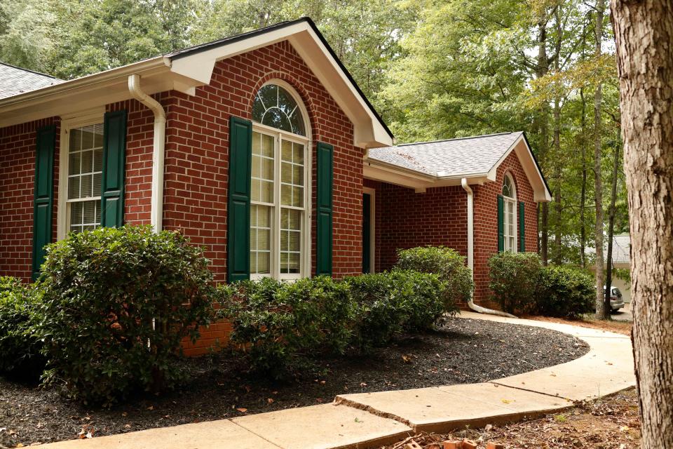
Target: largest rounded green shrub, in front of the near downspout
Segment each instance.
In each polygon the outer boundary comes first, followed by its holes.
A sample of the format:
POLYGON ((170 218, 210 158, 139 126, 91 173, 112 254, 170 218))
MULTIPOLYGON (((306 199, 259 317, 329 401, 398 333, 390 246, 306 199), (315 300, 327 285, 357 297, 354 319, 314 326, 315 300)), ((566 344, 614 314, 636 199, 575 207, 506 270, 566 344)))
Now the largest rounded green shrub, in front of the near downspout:
POLYGON ((36 333, 45 382, 109 405, 130 391, 175 386, 180 341, 212 315, 212 274, 200 248, 177 232, 100 228, 48 247, 36 333))

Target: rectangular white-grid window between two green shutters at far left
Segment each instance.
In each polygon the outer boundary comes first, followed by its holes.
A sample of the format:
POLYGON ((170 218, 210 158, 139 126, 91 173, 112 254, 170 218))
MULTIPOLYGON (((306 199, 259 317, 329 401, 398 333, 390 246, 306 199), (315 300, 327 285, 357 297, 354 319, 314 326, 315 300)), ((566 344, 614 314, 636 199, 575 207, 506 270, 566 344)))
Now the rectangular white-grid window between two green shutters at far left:
POLYGON ((96 229, 100 227, 103 124, 72 128, 68 143, 68 231, 96 229))

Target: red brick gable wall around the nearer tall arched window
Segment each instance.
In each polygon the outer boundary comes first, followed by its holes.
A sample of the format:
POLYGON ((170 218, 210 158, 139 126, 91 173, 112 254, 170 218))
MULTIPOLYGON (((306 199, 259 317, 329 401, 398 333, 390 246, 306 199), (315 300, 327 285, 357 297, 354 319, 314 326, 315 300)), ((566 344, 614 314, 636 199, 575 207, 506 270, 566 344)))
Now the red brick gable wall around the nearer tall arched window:
MULTIPOLYGON (((334 145, 334 276, 361 270, 362 149, 353 126, 287 41, 218 62, 208 86, 162 97, 168 129, 164 227, 203 245, 217 281, 226 279, 229 117, 251 119, 257 90, 271 79, 290 83, 304 100, 313 142, 334 145)), ((315 145, 313 147, 315 205, 315 145)), ((313 211, 315 217, 315 210, 313 211)), ((312 220, 315 269, 315 220, 312 220)))

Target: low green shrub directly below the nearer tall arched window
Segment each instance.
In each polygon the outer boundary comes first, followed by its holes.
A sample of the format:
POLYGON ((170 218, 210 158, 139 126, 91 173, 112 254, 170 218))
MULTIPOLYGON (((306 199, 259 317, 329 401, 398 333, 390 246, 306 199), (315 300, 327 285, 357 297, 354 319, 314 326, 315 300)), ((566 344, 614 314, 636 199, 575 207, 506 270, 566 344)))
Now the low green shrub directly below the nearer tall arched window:
POLYGON ((219 286, 231 342, 252 368, 284 377, 318 354, 342 354, 351 341, 348 285, 326 276, 292 283, 264 278, 219 286))

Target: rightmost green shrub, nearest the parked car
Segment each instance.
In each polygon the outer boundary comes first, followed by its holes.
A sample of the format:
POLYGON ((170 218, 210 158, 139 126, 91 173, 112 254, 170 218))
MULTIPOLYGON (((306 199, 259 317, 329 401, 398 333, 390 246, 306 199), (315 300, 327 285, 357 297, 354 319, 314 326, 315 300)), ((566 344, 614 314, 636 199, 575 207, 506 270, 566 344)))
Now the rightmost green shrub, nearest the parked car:
POLYGON ((536 312, 575 319, 594 311, 594 277, 571 267, 544 267, 541 271, 536 312))

